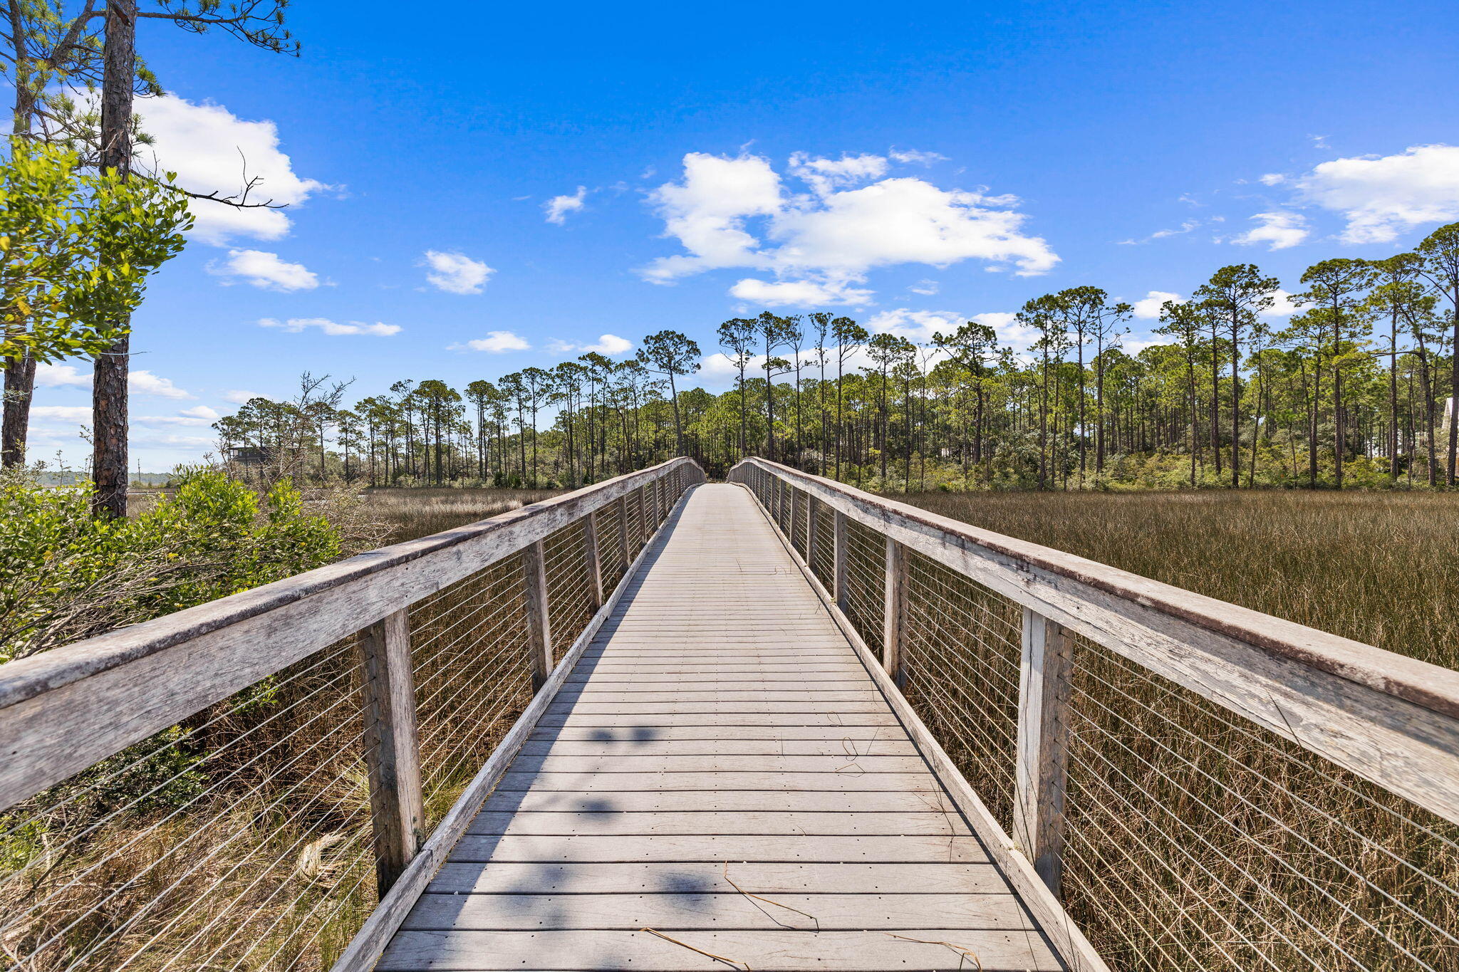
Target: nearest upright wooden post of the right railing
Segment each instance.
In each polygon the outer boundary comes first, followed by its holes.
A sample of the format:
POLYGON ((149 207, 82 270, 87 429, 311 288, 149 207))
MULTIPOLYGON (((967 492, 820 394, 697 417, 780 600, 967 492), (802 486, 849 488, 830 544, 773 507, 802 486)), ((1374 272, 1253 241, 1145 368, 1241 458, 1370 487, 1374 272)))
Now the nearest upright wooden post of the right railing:
POLYGON ((1072 660, 1064 627, 1024 608, 1013 826, 1014 839, 1055 896, 1064 871, 1072 660))

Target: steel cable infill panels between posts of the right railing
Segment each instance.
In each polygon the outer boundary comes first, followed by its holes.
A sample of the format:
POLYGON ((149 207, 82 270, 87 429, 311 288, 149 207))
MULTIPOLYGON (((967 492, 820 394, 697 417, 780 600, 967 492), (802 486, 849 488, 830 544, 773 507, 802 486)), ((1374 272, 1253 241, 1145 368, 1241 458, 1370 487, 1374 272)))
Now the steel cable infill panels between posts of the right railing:
MULTIPOLYGON (((744 482, 835 583, 835 512, 744 482), (794 516, 791 510, 794 509, 794 516)), ((845 525, 843 614, 880 651, 886 539, 845 525)), ((1013 832, 1023 608, 903 548, 903 692, 1013 832)), ((1062 904, 1113 969, 1459 972, 1459 828, 1174 682, 1074 646, 1062 904)))

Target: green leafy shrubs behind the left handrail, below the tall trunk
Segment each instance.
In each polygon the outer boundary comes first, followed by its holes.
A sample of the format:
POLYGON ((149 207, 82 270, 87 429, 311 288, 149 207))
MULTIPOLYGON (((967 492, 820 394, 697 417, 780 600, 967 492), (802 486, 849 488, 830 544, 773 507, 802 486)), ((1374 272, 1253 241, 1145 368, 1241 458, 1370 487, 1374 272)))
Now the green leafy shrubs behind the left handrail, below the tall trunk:
POLYGON ((287 481, 264 497, 214 469, 136 519, 89 516, 90 490, 0 479, 0 660, 289 577, 340 535, 287 481))

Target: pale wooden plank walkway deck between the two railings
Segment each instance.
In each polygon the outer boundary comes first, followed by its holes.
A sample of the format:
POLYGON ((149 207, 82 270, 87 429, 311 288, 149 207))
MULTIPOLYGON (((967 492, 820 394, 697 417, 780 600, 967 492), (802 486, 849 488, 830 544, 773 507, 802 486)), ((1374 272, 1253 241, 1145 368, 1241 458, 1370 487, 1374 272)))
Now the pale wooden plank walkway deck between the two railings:
POLYGON ((1064 966, 753 498, 703 485, 376 968, 1064 966))

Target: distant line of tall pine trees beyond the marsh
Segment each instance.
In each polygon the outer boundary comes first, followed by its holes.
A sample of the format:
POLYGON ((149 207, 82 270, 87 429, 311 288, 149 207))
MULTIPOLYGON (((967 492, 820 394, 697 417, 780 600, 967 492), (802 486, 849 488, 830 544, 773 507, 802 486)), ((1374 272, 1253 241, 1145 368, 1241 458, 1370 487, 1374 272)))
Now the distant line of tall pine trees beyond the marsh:
POLYGON ((925 344, 848 316, 718 326, 732 388, 684 385, 696 341, 584 354, 463 389, 397 382, 341 407, 305 376, 216 428, 244 474, 372 485, 578 487, 673 455, 722 474, 762 455, 877 490, 1453 487, 1459 223, 1386 259, 1325 259, 1274 324, 1280 281, 1217 270, 1126 347, 1132 307, 1097 287, 1024 303, 1014 350, 969 321, 925 344))

